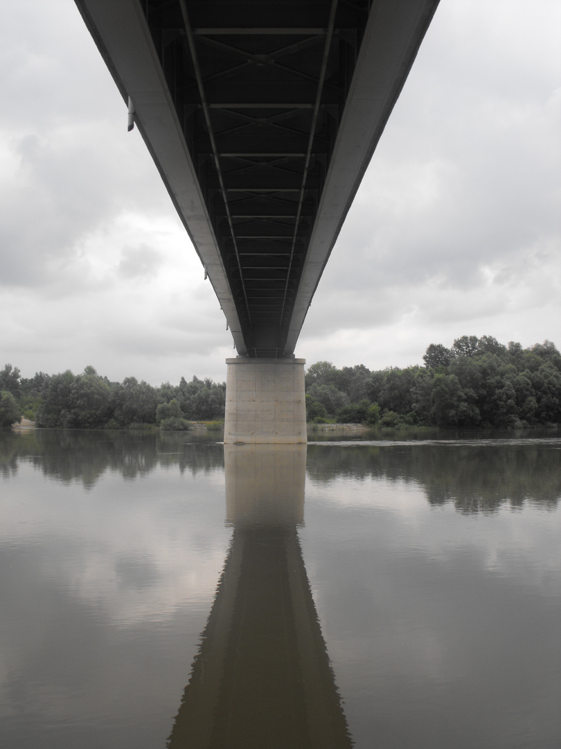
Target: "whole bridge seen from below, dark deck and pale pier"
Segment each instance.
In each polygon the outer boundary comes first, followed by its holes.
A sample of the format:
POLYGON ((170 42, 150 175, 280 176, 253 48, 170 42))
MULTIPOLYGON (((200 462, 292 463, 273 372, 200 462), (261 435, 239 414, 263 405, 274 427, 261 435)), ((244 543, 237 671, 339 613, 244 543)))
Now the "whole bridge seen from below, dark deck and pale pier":
POLYGON ((438 0, 76 4, 232 333, 224 441, 305 441, 295 345, 438 0))

